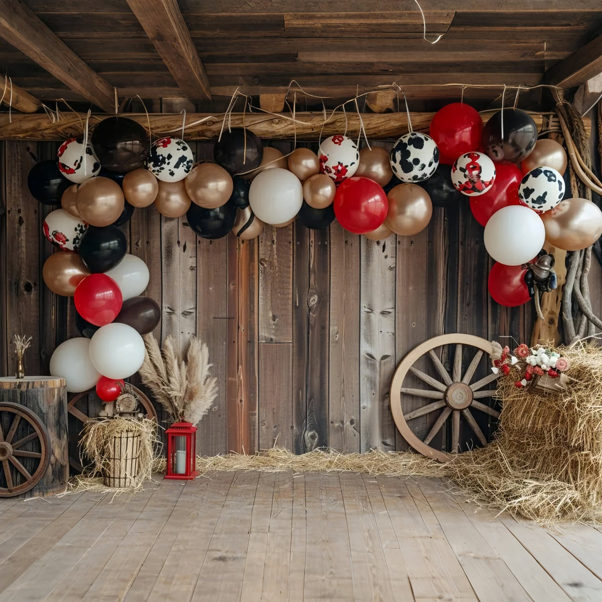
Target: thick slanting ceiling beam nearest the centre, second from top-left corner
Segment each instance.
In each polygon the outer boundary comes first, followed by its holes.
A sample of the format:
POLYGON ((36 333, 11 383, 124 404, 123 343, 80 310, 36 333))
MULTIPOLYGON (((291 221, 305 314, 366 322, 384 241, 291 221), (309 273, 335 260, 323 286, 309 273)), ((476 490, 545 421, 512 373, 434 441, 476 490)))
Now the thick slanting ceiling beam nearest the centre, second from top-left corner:
POLYGON ((176 0, 127 0, 167 69, 191 102, 211 99, 209 79, 176 0))

